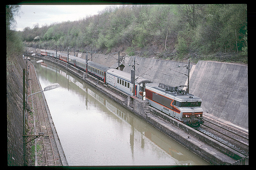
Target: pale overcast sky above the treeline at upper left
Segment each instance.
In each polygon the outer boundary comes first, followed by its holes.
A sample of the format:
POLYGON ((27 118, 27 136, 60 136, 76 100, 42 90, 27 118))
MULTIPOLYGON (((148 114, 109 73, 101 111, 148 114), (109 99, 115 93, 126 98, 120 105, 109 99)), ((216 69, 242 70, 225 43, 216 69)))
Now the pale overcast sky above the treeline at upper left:
POLYGON ((20 5, 19 15, 15 16, 16 31, 51 25, 54 22, 74 21, 83 17, 98 14, 111 5, 20 5))

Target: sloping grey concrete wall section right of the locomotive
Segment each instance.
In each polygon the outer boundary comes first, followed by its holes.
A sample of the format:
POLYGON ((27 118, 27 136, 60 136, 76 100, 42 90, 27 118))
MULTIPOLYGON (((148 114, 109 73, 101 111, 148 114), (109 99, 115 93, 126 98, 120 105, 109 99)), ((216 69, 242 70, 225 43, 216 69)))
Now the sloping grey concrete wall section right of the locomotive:
POLYGON ((206 113, 248 129, 247 66, 199 61, 189 84, 206 113))

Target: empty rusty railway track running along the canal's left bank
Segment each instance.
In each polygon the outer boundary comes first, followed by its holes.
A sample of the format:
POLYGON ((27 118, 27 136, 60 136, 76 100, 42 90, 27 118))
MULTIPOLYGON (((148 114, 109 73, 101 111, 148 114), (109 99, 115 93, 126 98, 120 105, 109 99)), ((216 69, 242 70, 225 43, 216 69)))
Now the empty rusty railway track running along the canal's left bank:
MULTIPOLYGON (((33 67, 32 64, 29 64, 33 67)), ((29 69, 30 86, 32 92, 40 91, 39 84, 35 75, 34 69, 29 69)), ((39 166, 61 166, 61 160, 58 154, 57 145, 53 136, 48 113, 45 108, 45 103, 42 94, 35 94, 31 96, 34 101, 34 116, 36 135, 44 134, 43 137, 37 138, 37 165, 39 166)))

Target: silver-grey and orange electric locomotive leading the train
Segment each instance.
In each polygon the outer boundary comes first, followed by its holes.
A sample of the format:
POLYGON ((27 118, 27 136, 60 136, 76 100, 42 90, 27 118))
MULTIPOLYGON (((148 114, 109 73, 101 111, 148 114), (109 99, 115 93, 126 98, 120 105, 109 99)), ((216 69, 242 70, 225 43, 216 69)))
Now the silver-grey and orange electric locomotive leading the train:
POLYGON ((204 123, 202 100, 198 96, 163 83, 146 84, 145 91, 150 105, 165 114, 191 127, 204 123))

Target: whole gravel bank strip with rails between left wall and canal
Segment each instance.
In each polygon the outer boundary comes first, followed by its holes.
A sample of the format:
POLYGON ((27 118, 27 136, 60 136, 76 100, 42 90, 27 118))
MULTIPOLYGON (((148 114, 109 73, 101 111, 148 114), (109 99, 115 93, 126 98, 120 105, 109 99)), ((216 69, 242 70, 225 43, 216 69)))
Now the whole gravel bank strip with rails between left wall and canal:
MULTIPOLYGON (((36 76, 34 66, 28 61, 28 92, 41 91, 41 86, 36 76)), ((27 135, 38 135, 44 133, 43 137, 38 137, 30 141, 33 137, 27 138, 27 165, 31 166, 67 166, 68 162, 61 147, 57 131, 44 96, 44 93, 31 95, 28 98, 27 135)))

